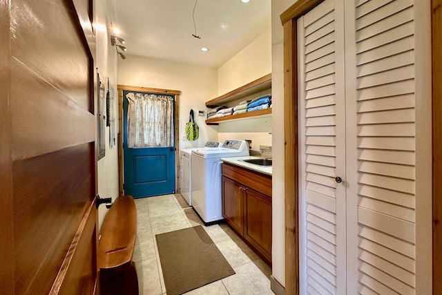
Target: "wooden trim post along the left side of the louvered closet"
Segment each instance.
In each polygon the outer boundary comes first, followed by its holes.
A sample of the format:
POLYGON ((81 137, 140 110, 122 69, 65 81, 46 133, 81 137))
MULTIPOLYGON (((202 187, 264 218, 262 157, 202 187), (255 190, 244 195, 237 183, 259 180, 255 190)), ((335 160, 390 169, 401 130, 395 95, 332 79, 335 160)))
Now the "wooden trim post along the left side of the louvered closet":
POLYGON ((300 0, 280 15, 284 26, 285 294, 299 294, 298 42, 296 19, 323 0, 300 0))

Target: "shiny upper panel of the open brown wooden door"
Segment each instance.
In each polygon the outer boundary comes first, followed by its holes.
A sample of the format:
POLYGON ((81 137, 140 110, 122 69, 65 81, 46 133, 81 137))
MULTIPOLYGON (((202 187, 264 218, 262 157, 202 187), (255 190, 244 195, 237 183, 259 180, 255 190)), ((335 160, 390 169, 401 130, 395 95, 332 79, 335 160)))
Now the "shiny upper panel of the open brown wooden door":
MULTIPOLYGON (((11 1, 12 55, 89 109, 90 53, 70 1, 11 1), (26 12, 26 13, 23 13, 26 12), (30 17, 32 15, 32 17, 30 17)), ((32 95, 31 97, 43 97, 32 95)))

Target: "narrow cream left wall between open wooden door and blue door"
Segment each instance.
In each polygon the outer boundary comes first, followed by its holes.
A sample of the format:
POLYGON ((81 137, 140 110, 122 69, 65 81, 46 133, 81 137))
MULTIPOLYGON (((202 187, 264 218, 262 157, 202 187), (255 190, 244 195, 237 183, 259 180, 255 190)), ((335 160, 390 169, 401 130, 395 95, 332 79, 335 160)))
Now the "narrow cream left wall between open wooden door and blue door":
MULTIPOLYGON (((96 35, 97 55, 95 57, 95 66, 99 73, 108 78, 115 87, 117 94, 117 53, 115 47, 111 46, 110 41, 110 21, 108 7, 105 0, 95 1, 95 21, 94 29, 96 35)), ((117 95, 116 95, 117 96, 117 95)), ((113 99, 114 110, 118 110, 118 101, 113 99)), ((116 116, 118 113, 116 113, 116 116)), ((109 127, 106 127, 106 154, 104 158, 98 161, 98 194, 102 198, 112 197, 113 200, 118 196, 118 147, 109 149, 109 127)), ((99 207, 98 218, 99 228, 101 228, 107 209, 104 205, 99 207)))

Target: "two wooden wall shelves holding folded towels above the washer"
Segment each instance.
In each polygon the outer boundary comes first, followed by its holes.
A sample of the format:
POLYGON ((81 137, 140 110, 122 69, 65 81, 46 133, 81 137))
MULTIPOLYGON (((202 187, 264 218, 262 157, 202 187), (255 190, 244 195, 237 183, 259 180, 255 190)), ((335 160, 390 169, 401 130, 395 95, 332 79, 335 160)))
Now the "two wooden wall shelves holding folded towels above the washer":
MULTIPOLYGON (((261 91, 269 90, 271 91, 271 74, 265 75, 264 77, 260 77, 255 81, 250 82, 240 88, 236 88, 229 93, 221 95, 219 97, 215 97, 214 99, 206 102, 206 107, 214 108, 216 106, 222 106, 229 102, 234 102, 236 100, 240 100, 249 95, 253 95, 256 93, 260 93, 261 91)), ((217 117, 213 119, 206 120, 207 125, 218 125, 220 122, 232 121, 232 120, 240 120, 246 119, 249 117, 260 117, 260 116, 269 116, 271 115, 271 108, 266 108, 260 111, 253 111, 250 113, 242 113, 238 115, 229 115, 227 117, 217 117)))

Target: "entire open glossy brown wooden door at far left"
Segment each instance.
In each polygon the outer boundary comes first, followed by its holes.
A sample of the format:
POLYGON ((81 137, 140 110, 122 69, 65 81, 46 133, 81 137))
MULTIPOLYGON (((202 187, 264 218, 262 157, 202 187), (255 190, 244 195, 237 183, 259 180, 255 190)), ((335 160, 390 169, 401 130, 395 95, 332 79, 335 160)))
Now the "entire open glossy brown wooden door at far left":
POLYGON ((0 293, 92 294, 93 53, 72 1, 37 2, 0 3, 0 293))

